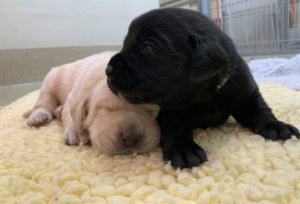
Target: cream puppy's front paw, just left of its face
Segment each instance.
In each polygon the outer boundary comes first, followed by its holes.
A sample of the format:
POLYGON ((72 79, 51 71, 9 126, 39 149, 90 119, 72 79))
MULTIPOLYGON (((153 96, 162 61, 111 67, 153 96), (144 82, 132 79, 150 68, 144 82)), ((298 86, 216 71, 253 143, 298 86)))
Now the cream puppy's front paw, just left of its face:
POLYGON ((74 125, 70 125, 65 129, 64 142, 66 145, 83 145, 90 140, 87 133, 79 134, 76 132, 74 125))

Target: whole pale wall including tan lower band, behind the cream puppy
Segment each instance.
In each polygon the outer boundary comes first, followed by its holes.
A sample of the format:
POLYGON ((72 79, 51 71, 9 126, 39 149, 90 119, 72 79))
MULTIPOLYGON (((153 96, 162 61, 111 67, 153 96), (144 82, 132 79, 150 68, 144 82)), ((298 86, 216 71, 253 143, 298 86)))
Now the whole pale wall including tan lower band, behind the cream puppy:
POLYGON ((0 106, 38 89, 51 67, 119 50, 158 0, 0 0, 0 106))

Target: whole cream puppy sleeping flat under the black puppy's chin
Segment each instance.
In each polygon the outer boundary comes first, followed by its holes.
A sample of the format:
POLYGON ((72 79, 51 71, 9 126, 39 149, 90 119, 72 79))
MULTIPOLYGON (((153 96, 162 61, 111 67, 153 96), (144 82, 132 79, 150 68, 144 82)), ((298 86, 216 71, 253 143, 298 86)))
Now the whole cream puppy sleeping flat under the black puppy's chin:
POLYGON ((104 52, 51 69, 39 98, 27 111, 29 126, 61 119, 64 141, 86 143, 109 153, 146 152, 160 140, 156 123, 159 107, 132 105, 115 96, 107 86, 105 68, 115 52, 104 52))

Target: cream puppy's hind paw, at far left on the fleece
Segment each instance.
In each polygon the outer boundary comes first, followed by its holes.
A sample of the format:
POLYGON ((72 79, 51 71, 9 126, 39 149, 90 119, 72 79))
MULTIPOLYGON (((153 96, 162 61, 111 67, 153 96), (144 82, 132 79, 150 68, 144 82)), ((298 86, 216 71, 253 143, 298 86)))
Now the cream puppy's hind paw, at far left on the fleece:
POLYGON ((53 119, 53 115, 46 108, 37 108, 27 119, 29 126, 40 126, 50 122, 53 119))

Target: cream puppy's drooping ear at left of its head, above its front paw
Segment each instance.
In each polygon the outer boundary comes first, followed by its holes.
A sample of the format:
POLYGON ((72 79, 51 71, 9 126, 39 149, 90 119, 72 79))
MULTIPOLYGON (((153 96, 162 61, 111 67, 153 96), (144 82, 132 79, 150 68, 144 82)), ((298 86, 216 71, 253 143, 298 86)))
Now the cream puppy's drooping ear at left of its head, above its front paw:
POLYGON ((83 133, 85 131, 85 120, 88 115, 88 105, 89 100, 85 98, 79 103, 78 107, 75 109, 75 117, 73 117, 73 120, 75 129, 78 133, 83 133))

